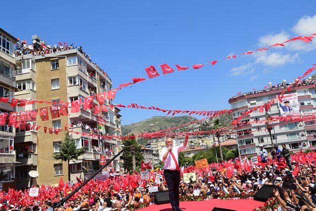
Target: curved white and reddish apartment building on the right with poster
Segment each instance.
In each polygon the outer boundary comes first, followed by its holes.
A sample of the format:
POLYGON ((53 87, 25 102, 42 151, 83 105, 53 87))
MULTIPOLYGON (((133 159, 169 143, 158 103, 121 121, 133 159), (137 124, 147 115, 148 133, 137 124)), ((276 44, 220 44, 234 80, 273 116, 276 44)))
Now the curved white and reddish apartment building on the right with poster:
MULTIPOLYGON (((253 107, 264 105, 269 100, 276 97, 286 90, 280 88, 276 90, 266 91, 262 93, 255 93, 245 95, 229 100, 233 109, 234 120, 241 115, 242 112, 250 110, 253 107)), ((316 89, 314 85, 300 85, 295 86, 291 91, 286 91, 285 94, 297 93, 300 114, 308 116, 310 113, 315 112, 316 108, 316 89)), ((267 117, 280 116, 280 110, 277 101, 272 104, 268 112, 260 113, 258 110, 243 117, 240 121, 252 122, 262 121, 267 117)), ((237 126, 237 144, 239 147, 240 155, 253 156, 259 151, 259 146, 262 144, 264 147, 276 145, 279 148, 281 144, 285 144, 291 151, 316 149, 316 122, 294 122, 283 123, 276 121, 270 124, 271 136, 267 131, 268 125, 265 123, 249 124, 237 126), (272 139, 272 140, 271 140, 272 139)))

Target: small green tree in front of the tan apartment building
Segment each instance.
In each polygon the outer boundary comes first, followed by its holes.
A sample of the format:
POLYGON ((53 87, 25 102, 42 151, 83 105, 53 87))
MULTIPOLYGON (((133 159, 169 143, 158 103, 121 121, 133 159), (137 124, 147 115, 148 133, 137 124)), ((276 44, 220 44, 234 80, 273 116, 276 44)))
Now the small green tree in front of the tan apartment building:
POLYGON ((55 160, 62 160, 68 162, 68 181, 70 179, 70 161, 78 160, 79 156, 84 154, 84 148, 77 149, 75 140, 66 136, 64 141, 59 145, 59 152, 53 154, 55 160))

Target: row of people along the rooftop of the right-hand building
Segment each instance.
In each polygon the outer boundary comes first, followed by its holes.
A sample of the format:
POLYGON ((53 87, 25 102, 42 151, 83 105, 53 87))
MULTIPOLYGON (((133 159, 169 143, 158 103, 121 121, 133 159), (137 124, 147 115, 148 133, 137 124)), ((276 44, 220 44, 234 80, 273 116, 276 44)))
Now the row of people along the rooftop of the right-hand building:
MULTIPOLYGON (((314 85, 314 84, 316 84, 316 78, 313 75, 313 77, 308 78, 308 79, 304 79, 302 82, 294 84, 294 86, 314 85)), ((232 99, 238 98, 238 97, 242 97, 242 96, 246 96, 246 95, 264 93, 264 92, 269 92, 269 91, 273 91, 273 90, 277 90, 277 89, 288 88, 290 85, 291 84, 287 84, 286 82, 282 82, 282 83, 276 84, 276 85, 265 86, 265 88, 261 89, 261 90, 253 90, 253 91, 237 94, 236 96, 229 98, 229 100, 232 100, 232 99)))

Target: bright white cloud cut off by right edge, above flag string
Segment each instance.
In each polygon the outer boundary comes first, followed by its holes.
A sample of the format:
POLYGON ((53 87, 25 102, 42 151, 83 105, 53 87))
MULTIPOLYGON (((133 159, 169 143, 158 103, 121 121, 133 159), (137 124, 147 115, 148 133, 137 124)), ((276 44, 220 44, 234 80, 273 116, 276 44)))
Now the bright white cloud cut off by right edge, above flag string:
POLYGON ((302 17, 292 30, 298 35, 310 36, 316 33, 316 15, 302 17))

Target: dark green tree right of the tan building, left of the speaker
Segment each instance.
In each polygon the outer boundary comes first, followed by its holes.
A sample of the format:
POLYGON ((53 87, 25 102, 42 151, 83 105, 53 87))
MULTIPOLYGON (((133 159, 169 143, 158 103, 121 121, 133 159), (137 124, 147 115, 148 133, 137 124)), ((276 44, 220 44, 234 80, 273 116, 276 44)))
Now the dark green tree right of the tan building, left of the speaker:
POLYGON ((125 146, 124 152, 121 156, 121 159, 123 159, 124 161, 123 167, 128 172, 132 172, 133 171, 132 146, 134 146, 135 148, 136 169, 137 167, 141 166, 141 163, 144 160, 144 157, 141 151, 142 146, 137 143, 136 139, 123 140, 122 144, 125 146))

